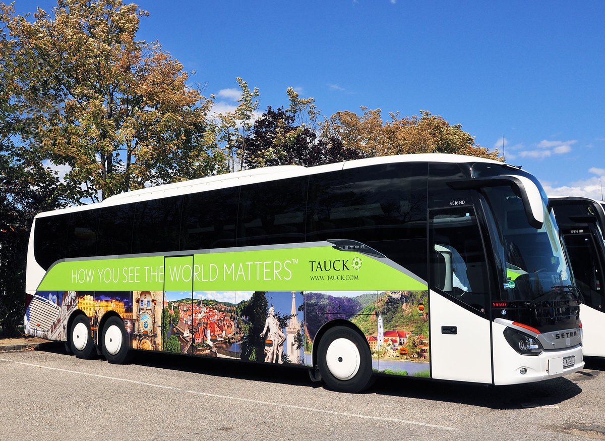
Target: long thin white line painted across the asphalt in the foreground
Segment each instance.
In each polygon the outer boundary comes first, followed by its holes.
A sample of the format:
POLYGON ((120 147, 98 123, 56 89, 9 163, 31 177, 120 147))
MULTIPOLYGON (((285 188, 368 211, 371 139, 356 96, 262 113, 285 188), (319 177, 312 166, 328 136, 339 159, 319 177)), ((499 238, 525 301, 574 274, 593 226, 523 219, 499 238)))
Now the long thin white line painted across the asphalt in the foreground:
POLYGON ((290 409, 296 409, 296 410, 311 411, 311 412, 316 412, 316 413, 355 417, 355 418, 367 419, 367 420, 380 420, 380 421, 388 421, 388 422, 405 423, 405 424, 411 424, 411 425, 416 425, 416 426, 430 427, 430 428, 434 428, 434 429, 454 430, 453 427, 440 426, 437 424, 422 423, 419 421, 401 420, 401 419, 397 419, 397 418, 387 418, 387 417, 376 417, 376 416, 363 415, 363 414, 351 414, 351 413, 338 412, 338 411, 333 411, 333 410, 324 410, 324 409, 305 407, 305 406, 295 406, 292 404, 283 404, 283 403, 275 403, 275 402, 270 402, 270 401, 252 400, 249 398, 231 397, 228 395, 219 395, 219 394, 209 394, 209 393, 198 392, 198 391, 188 391, 188 390, 183 390, 180 388, 174 388, 172 386, 163 386, 163 385, 158 385, 158 384, 154 384, 154 383, 146 383, 146 382, 137 381, 137 380, 129 380, 126 378, 109 377, 106 375, 90 374, 87 372, 70 371, 67 369, 52 368, 50 366, 34 365, 33 363, 17 362, 15 360, 0 359, 0 361, 16 363, 18 365, 24 365, 24 366, 31 366, 34 368, 48 369, 48 370, 52 370, 52 371, 62 371, 62 372, 70 373, 70 374, 79 374, 79 375, 85 375, 85 376, 89 376, 89 377, 97 377, 97 378, 103 378, 103 379, 108 379, 108 380, 116 380, 116 381, 122 381, 122 382, 127 382, 127 383, 134 383, 134 384, 139 384, 139 385, 143 385, 143 386, 151 386, 154 388, 168 389, 168 390, 173 390, 173 391, 177 391, 177 392, 185 392, 188 394, 196 394, 196 395, 202 395, 202 396, 206 396, 206 397, 220 398, 220 399, 224 399, 224 400, 235 400, 235 401, 242 401, 242 402, 248 402, 248 403, 256 403, 256 404, 261 404, 261 405, 270 405, 270 406, 290 408, 290 409))

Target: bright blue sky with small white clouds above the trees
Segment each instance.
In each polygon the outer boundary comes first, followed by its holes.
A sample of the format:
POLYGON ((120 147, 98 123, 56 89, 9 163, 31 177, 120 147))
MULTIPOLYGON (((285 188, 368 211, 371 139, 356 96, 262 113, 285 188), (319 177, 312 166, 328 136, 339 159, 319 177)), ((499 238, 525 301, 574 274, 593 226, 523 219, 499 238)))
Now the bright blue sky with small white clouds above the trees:
MULTIPOLYGON (((19 13, 51 1, 18 0, 19 13)), ((325 117, 360 106, 428 110, 523 165, 549 194, 605 185, 605 2, 140 0, 137 39, 158 40, 192 82, 260 110, 313 97, 325 117)))

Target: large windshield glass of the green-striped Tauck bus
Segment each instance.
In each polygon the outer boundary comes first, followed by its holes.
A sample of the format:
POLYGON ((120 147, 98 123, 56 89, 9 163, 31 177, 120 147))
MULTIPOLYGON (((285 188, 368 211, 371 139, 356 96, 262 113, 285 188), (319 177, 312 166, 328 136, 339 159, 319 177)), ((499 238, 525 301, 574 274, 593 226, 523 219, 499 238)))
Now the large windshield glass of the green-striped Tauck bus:
POLYGON ((511 174, 527 177, 538 188, 544 222, 540 230, 532 227, 522 199, 511 187, 482 188, 485 196, 489 234, 496 254, 502 283, 501 300, 546 300, 558 297, 557 291, 571 287, 571 272, 554 215, 547 209, 548 198, 535 177, 500 165, 477 164, 475 176, 511 174), (482 167, 481 167, 482 166, 482 167), (490 216, 491 214, 491 216, 490 216))

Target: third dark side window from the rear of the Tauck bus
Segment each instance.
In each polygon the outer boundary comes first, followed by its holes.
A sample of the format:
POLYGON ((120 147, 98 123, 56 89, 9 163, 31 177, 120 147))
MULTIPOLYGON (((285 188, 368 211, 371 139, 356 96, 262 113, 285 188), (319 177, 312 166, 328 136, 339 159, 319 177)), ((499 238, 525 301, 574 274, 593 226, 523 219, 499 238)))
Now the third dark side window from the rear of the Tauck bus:
POLYGON ((131 253, 133 218, 134 204, 116 205, 100 210, 97 238, 99 256, 131 253))

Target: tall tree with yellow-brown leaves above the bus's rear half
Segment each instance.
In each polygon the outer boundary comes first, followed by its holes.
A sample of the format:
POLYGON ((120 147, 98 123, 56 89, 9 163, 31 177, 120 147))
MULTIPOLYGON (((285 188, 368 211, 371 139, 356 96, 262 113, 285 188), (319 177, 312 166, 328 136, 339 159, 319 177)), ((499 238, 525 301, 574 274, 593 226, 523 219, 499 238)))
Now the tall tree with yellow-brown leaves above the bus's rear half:
POLYGON ((121 0, 59 0, 33 22, 1 10, 8 90, 32 125, 19 141, 64 165, 78 197, 226 171, 211 99, 158 42, 136 41, 146 15, 121 0))

